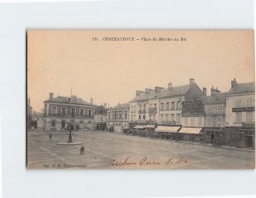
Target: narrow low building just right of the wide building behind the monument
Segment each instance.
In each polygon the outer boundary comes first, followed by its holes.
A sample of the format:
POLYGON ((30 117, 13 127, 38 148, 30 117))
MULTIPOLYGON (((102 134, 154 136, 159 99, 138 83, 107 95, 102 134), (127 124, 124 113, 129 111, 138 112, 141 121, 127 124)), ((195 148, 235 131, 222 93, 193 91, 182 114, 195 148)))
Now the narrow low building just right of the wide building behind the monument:
POLYGON ((96 106, 94 113, 94 129, 96 131, 106 131, 107 130, 107 105, 96 106))

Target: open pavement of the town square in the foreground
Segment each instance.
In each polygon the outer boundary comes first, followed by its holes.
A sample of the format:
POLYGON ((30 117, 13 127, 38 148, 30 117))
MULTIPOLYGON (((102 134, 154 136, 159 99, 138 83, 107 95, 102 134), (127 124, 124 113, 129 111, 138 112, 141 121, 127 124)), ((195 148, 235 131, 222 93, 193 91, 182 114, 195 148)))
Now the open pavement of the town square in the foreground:
POLYGON ((255 167, 255 152, 215 148, 201 144, 149 139, 138 136, 73 132, 73 143, 67 143, 68 133, 28 131, 28 168, 90 168, 90 169, 241 169, 255 167))

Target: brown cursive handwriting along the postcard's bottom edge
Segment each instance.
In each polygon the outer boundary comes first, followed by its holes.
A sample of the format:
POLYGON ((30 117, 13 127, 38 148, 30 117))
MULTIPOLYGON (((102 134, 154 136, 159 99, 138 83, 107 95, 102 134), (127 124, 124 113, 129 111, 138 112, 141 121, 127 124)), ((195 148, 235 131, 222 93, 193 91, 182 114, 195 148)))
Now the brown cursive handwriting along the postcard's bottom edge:
POLYGON ((112 161, 110 161, 109 165, 112 167, 160 166, 160 165, 169 166, 172 164, 187 164, 187 163, 189 163, 189 161, 184 156, 177 159, 174 159, 174 157, 172 156, 166 161, 155 161, 145 156, 139 161, 133 161, 130 159, 130 157, 127 157, 124 161, 113 159, 112 161))

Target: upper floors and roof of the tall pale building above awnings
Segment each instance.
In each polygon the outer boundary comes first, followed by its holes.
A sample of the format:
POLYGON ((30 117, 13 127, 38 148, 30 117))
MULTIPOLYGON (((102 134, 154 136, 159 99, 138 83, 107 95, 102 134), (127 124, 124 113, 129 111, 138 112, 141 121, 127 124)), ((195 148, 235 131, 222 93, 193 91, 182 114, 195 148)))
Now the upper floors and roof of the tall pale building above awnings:
POLYGON ((174 87, 171 82, 168 88, 137 91, 130 102, 130 122, 180 125, 183 101, 195 100, 203 95, 193 78, 189 79, 188 85, 174 87))

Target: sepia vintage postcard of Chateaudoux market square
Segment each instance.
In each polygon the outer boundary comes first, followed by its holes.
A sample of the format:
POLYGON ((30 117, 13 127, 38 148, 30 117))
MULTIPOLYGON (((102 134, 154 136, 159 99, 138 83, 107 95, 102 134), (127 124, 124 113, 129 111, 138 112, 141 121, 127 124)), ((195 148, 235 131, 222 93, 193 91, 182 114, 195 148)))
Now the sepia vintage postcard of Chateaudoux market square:
POLYGON ((254 169, 253 31, 27 31, 28 169, 254 169))

